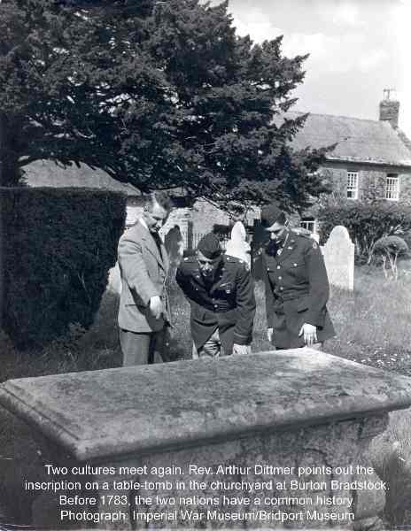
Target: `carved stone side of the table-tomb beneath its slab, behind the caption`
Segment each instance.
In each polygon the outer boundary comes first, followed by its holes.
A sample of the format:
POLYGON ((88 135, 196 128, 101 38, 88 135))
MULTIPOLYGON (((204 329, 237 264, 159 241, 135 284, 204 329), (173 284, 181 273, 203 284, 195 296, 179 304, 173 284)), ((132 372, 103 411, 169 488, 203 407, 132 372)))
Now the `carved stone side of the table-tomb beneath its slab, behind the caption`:
MULTIPOLYGON (((354 491, 346 489, 345 483, 378 482, 373 474, 356 473, 356 467, 368 466, 364 458, 367 441, 362 433, 382 432, 387 417, 385 413, 367 419, 337 420, 318 426, 254 433, 233 441, 98 461, 99 466, 107 468, 140 467, 140 471, 122 476, 89 476, 89 481, 97 481, 99 485, 106 481, 111 486, 100 490, 98 509, 93 507, 89 511, 106 511, 107 496, 127 496, 128 504, 116 507, 116 512, 121 514, 120 521, 100 522, 96 526, 123 530, 146 527, 237 529, 240 526, 318 529, 330 527, 331 521, 338 529, 353 529, 354 523, 361 529, 370 521, 377 526, 376 514, 384 507, 384 491, 354 491), (190 472, 190 466, 196 470, 190 472), (173 472, 162 477, 153 472, 167 467, 173 467, 173 472), (273 470, 274 467, 277 470, 273 470), (305 472, 299 473, 302 468, 305 472), (139 487, 116 486, 113 489, 113 481, 133 481, 139 487), (244 485, 260 483, 263 487, 239 488, 239 482, 244 485), (249 498, 248 503, 244 502, 245 498, 249 498), (334 504, 326 503, 330 499, 335 500, 334 504), (233 514, 236 520, 227 519, 233 518, 233 514), (155 515, 159 519, 155 519, 155 515), (334 520, 330 520, 331 515, 334 520)), ((48 462, 58 462, 56 455, 50 453, 48 462)), ((63 461, 60 458, 60 464, 76 466, 69 458, 63 461)), ((46 496, 37 501, 35 526, 52 526, 52 519, 57 517, 57 500, 46 496)))

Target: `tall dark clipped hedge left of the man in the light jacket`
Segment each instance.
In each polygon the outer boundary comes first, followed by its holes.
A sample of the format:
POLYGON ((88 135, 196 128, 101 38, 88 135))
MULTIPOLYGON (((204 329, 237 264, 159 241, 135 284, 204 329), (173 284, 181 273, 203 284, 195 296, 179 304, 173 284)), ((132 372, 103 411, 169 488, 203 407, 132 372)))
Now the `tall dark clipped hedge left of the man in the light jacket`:
POLYGON ((92 324, 126 200, 97 189, 0 189, 2 327, 19 347, 92 324))

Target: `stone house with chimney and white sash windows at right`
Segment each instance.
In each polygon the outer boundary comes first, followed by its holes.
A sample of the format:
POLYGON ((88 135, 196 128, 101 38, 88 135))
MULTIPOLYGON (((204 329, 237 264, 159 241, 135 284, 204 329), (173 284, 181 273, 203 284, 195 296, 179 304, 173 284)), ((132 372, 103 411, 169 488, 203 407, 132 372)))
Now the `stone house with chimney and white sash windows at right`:
MULTIPOLYGON (((296 116, 296 112, 288 112, 296 116)), ((399 129, 399 102, 384 91, 379 119, 309 114, 292 141, 295 149, 337 144, 319 170, 337 200, 386 199, 411 204, 411 142, 399 129)), ((301 226, 316 232, 314 208, 301 226)))

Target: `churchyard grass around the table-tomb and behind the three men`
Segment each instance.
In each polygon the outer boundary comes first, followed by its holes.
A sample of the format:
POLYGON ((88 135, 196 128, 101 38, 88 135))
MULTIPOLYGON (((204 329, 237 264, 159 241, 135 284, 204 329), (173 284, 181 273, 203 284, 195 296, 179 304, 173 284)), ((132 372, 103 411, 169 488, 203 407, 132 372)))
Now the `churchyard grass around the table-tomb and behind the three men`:
MULTIPOLYGON (((170 360, 190 358, 189 306, 174 282, 169 290, 174 319, 170 360)), ((255 293, 252 350, 269 350, 261 282, 255 293)), ((337 338, 327 342, 327 352, 411 376, 411 276, 404 272, 398 281, 386 281, 381 270, 358 268, 353 294, 331 289, 329 309, 337 338)), ((74 326, 65 338, 44 349, 19 351, 0 335, 0 381, 120 366, 117 310, 118 296, 107 291, 89 331, 74 326)), ((22 492, 21 482, 43 477, 42 458, 28 428, 4 410, 0 410, 0 445, 0 516, 12 510, 11 518, 27 523, 30 496, 22 492)), ((373 461, 390 483, 386 511, 390 523, 411 526, 411 410, 392 414, 390 427, 373 445, 373 461)))

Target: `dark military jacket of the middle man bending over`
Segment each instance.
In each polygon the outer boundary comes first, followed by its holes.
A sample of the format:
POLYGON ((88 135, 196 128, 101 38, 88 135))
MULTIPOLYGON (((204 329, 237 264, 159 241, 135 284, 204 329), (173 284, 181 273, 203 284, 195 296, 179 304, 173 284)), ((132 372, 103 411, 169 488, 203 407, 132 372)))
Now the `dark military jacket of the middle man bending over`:
POLYGON ((175 278, 190 301, 191 335, 197 349, 217 328, 226 354, 231 354, 234 343, 252 342, 254 283, 242 260, 223 255, 207 286, 197 258, 184 258, 175 278))

